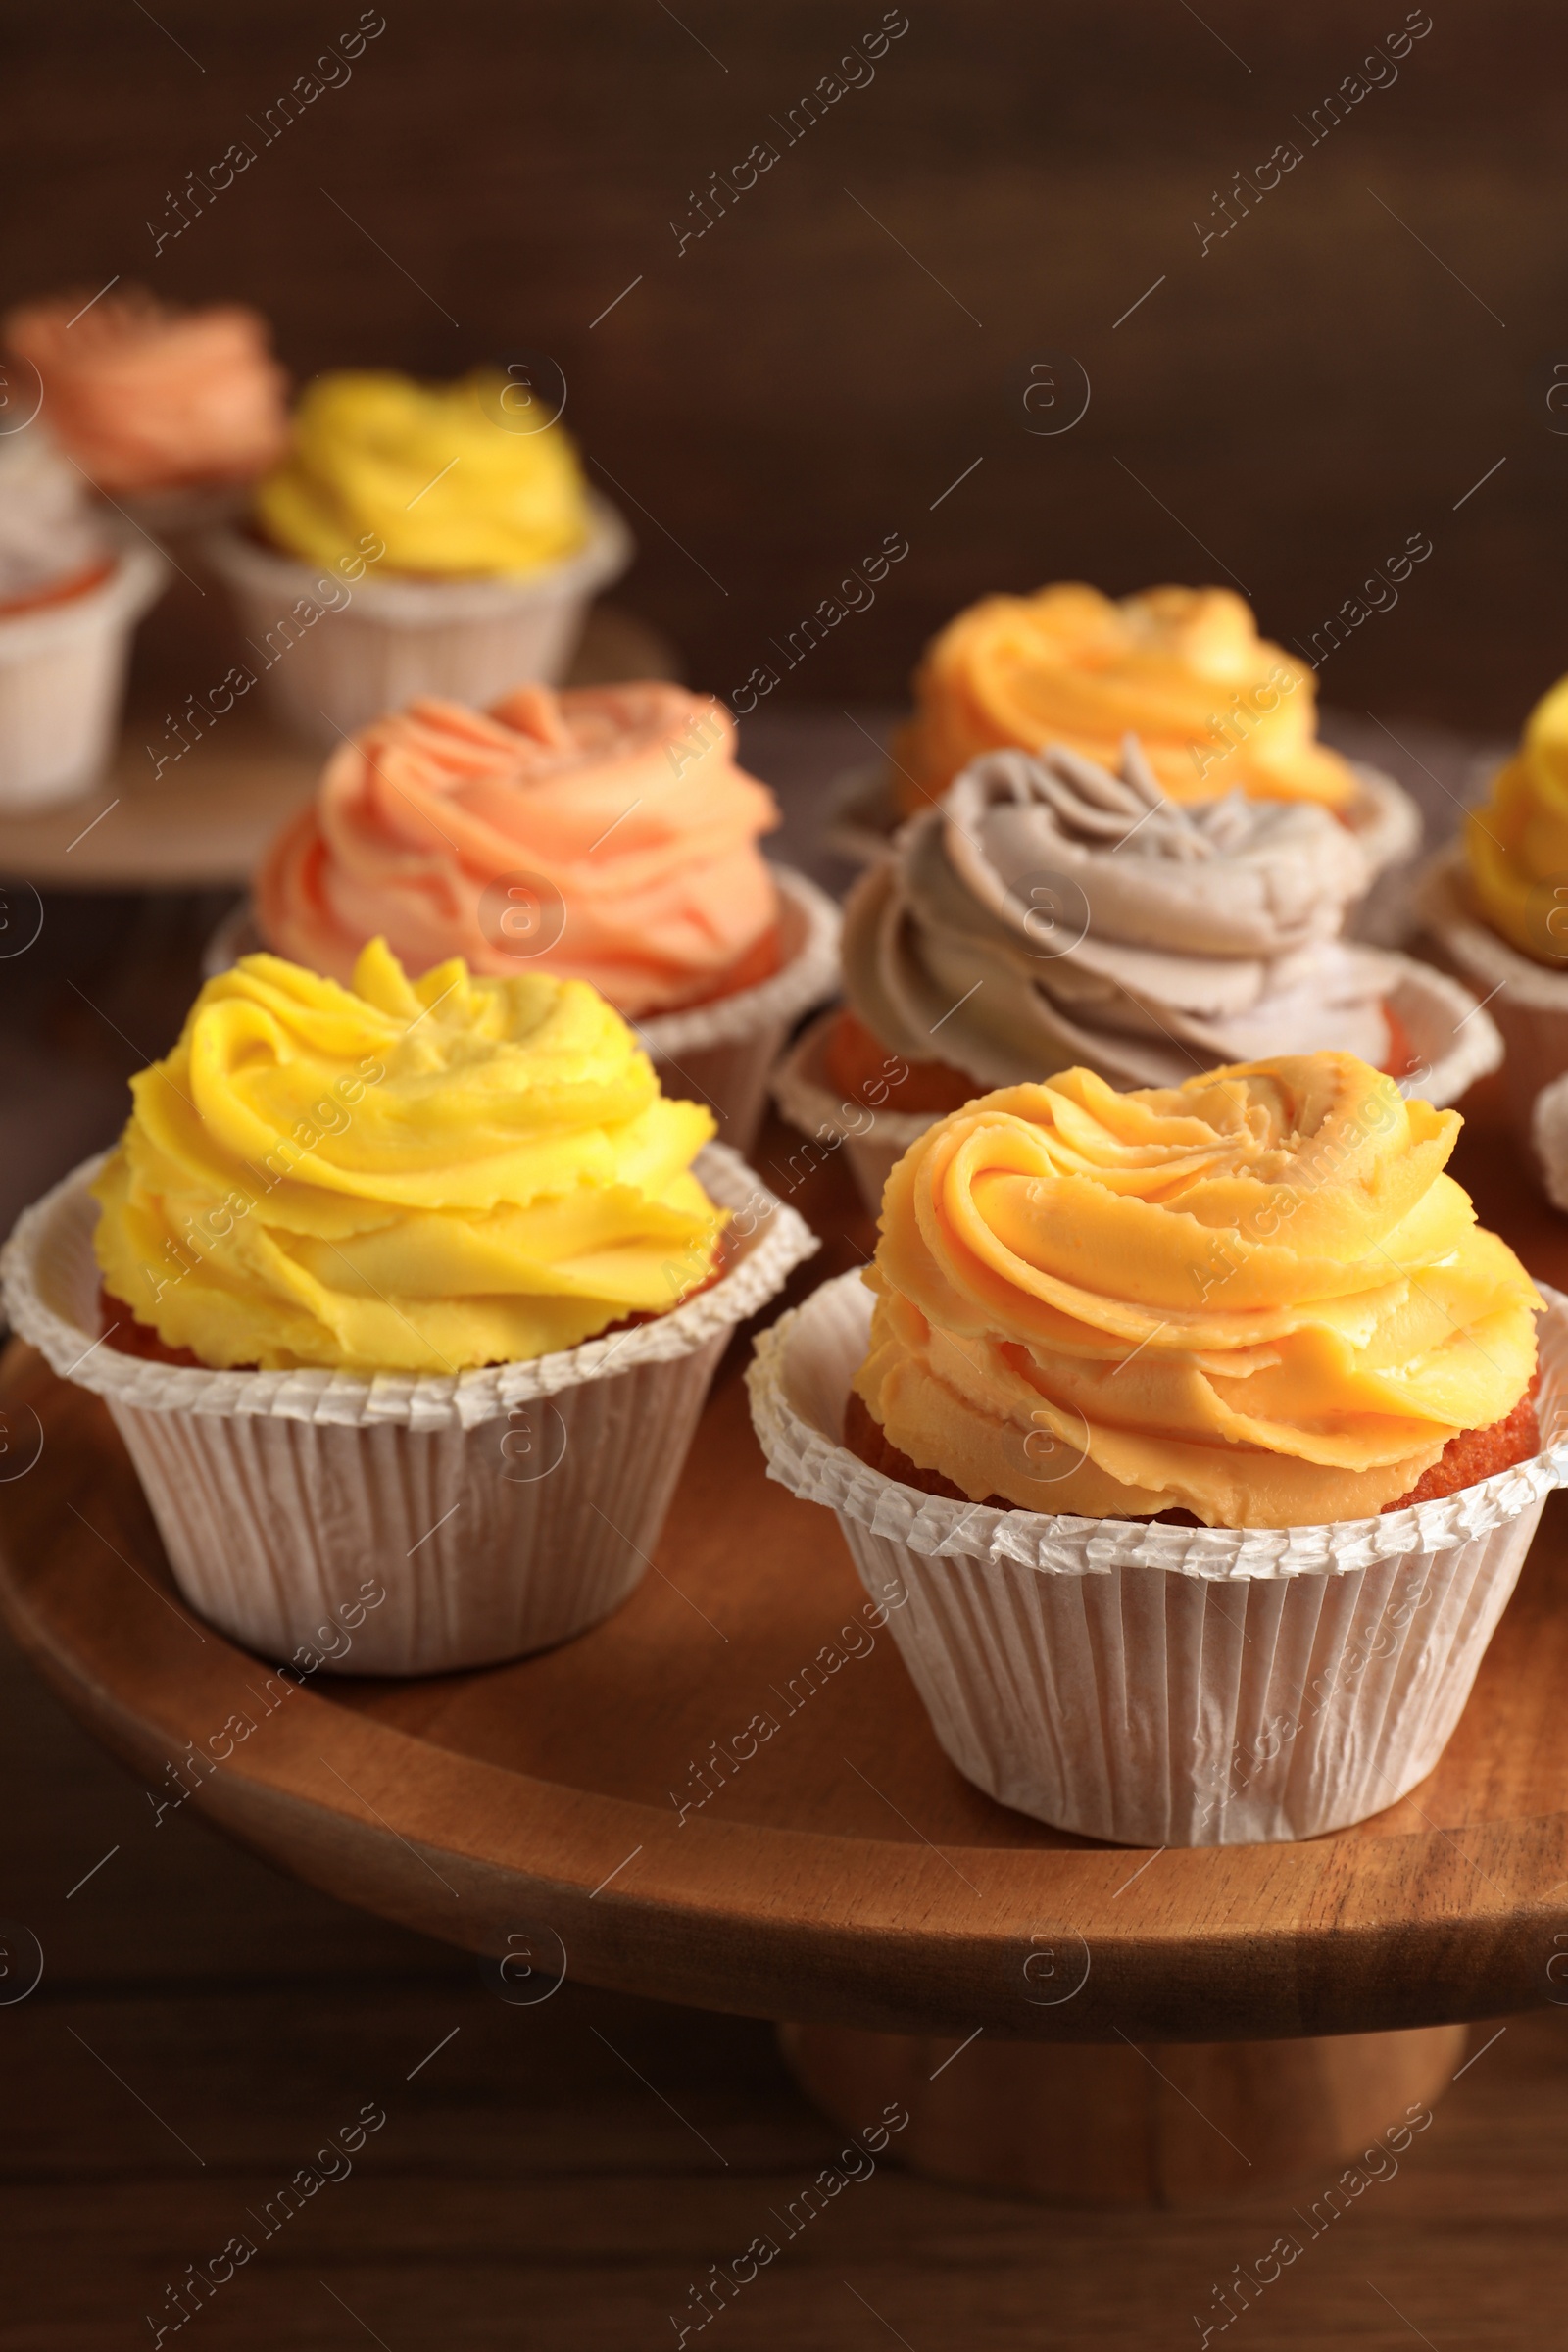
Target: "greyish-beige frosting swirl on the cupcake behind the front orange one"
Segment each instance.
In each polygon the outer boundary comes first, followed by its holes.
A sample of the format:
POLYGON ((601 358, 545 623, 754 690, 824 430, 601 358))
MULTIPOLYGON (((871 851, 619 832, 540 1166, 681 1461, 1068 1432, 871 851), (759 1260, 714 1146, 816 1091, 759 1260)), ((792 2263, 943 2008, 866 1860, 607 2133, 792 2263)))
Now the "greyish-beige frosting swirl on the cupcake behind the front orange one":
POLYGON ((1380 1065, 1394 967, 1338 936, 1368 880, 1328 809, 1180 807, 1133 736, 1119 774, 1058 746, 990 753, 856 884, 846 993, 884 1047, 980 1087, 1065 1061, 1175 1087, 1319 1047, 1380 1065))

